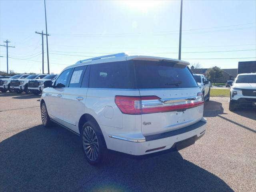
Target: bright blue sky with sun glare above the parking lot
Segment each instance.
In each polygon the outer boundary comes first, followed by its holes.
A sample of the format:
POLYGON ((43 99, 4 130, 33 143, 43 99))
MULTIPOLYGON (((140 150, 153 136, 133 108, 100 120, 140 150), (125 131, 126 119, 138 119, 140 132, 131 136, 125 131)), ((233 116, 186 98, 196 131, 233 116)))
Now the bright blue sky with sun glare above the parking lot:
MULTIPOLYGON (((112 53, 178 58, 180 0, 46 0, 50 72, 112 53)), ((9 70, 42 72, 43 0, 0 0, 0 44, 10 40, 9 70)), ((256 60, 255 0, 184 0, 181 59, 203 68, 256 60)), ((44 72, 47 72, 44 36, 44 72)), ((0 46, 6 71, 6 47, 0 46)))

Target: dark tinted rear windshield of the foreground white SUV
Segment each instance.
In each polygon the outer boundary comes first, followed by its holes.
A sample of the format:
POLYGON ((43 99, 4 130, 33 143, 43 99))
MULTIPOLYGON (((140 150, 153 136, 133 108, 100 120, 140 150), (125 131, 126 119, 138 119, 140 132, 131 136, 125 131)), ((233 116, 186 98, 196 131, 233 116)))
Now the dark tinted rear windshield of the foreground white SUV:
POLYGON ((192 74, 184 65, 166 61, 134 60, 138 88, 197 87, 192 74))

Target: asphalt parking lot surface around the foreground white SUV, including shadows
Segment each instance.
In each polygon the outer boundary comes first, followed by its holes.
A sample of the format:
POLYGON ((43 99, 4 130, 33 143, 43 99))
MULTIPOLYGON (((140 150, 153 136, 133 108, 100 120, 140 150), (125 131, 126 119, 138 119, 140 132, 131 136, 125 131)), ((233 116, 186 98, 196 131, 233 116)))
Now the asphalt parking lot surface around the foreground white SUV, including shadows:
POLYGON ((79 137, 41 125, 39 96, 0 93, 0 191, 256 190, 256 111, 205 103, 196 144, 142 160, 112 154, 100 167, 84 159, 79 137))

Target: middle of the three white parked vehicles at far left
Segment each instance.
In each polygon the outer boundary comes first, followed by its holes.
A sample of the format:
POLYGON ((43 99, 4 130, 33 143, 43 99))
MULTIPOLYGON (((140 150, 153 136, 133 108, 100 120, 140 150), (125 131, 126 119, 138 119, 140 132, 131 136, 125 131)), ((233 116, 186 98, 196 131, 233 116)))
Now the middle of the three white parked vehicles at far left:
POLYGON ((25 91, 26 94, 30 94, 28 90, 28 81, 30 79, 42 79, 46 74, 33 74, 27 76, 25 79, 11 80, 10 87, 15 90, 16 93, 20 94, 25 91))

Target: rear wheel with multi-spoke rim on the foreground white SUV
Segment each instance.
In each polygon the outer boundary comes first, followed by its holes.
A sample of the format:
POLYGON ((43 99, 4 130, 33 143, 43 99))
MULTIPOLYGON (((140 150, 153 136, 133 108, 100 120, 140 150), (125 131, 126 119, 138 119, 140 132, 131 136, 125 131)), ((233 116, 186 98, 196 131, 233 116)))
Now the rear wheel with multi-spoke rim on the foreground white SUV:
POLYGON ((82 150, 86 160, 91 165, 99 165, 104 162, 109 154, 97 122, 90 120, 84 123, 80 135, 82 150))

